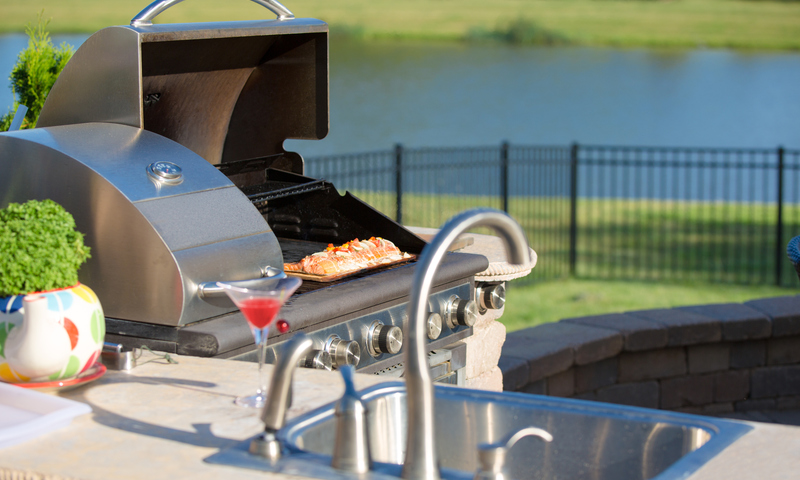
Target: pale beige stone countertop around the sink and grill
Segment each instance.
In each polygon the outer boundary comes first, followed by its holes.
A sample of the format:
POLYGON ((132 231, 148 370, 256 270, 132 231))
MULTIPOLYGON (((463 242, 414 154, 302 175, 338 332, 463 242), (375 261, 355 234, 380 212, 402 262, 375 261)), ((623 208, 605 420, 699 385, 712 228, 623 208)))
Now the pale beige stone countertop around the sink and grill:
MULTIPOLYGON (((156 358, 145 353, 147 363, 130 373, 109 371, 62 392, 89 404, 92 413, 46 436, 0 449, 0 479, 297 478, 203 462, 260 431, 259 412, 233 404, 234 396, 253 390, 256 364, 176 357, 175 365, 156 358)), ((265 368, 271 372, 271 366, 265 368)), ((359 388, 385 380, 356 375, 359 388)), ((289 415, 333 401, 342 391, 337 373, 299 369, 289 415)), ((800 428, 753 425, 753 431, 690 478, 796 478, 800 428)))

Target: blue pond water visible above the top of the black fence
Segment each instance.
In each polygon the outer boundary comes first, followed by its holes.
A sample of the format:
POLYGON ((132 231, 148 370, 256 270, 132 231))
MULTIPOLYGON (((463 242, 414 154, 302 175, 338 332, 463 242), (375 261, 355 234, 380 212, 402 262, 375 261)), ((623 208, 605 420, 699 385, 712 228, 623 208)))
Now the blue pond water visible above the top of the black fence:
MULTIPOLYGON (((0 77, 25 44, 24 35, 0 36, 0 77)), ((800 148, 798 53, 332 38, 330 74, 329 135, 288 149, 316 156, 503 140, 800 148)), ((11 102, 0 89, 0 108, 11 102)))

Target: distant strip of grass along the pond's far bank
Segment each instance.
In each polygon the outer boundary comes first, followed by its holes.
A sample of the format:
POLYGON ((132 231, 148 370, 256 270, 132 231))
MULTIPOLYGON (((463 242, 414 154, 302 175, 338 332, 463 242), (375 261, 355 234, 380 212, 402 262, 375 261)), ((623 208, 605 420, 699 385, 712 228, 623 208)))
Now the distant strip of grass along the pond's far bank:
MULTIPOLYGON (((0 0, 0 31, 22 31, 44 9, 51 32, 125 25, 148 4, 108 0, 0 0)), ((621 46, 800 49, 800 2, 740 0, 286 0, 298 17, 364 38, 455 40, 546 32, 570 43, 621 46), (476 35, 477 32, 477 35, 476 35)), ((162 22, 272 18, 247 0, 192 0, 162 22)))

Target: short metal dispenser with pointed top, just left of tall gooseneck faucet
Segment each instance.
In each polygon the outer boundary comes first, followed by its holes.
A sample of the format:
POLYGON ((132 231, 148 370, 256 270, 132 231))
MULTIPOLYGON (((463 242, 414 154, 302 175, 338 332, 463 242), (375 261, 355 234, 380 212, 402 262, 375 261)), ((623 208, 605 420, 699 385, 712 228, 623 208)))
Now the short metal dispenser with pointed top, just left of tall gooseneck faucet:
POLYGON ((336 404, 336 438, 331 466, 353 473, 366 473, 371 466, 367 437, 367 409, 356 392, 352 365, 339 367, 344 394, 336 404))

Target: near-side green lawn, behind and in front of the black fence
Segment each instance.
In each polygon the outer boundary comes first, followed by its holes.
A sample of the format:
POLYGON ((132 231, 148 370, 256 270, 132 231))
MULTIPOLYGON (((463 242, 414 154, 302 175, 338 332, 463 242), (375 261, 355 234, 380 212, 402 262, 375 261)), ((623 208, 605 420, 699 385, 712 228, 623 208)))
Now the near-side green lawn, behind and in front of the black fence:
MULTIPOLYGON (((354 193, 394 215, 393 194, 354 193)), ((438 227, 468 208, 500 206, 498 198, 485 196, 403 198, 403 223, 425 227, 438 227)), ((776 221, 772 205, 581 199, 578 276, 612 277, 592 280, 554 278, 568 271, 568 199, 516 197, 510 210, 538 254, 530 277, 538 280, 509 284, 501 319, 509 331, 569 317, 800 294, 800 281, 785 257, 782 278, 788 287, 768 285, 774 280, 775 258, 763 252, 775 242, 769 236, 776 221)), ((796 223, 800 205, 786 205, 785 219, 796 223)), ((792 232, 787 227, 785 234, 791 237, 792 232)))

